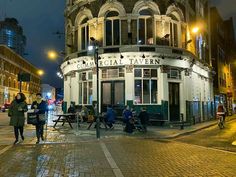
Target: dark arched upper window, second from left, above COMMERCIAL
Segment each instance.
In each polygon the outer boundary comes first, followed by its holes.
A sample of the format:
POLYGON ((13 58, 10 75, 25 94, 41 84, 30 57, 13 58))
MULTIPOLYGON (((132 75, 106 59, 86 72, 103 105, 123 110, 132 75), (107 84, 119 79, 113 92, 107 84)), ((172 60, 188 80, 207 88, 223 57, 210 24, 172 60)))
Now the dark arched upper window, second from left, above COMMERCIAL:
POLYGON ((105 17, 106 46, 120 45, 120 19, 119 13, 110 11, 105 17))

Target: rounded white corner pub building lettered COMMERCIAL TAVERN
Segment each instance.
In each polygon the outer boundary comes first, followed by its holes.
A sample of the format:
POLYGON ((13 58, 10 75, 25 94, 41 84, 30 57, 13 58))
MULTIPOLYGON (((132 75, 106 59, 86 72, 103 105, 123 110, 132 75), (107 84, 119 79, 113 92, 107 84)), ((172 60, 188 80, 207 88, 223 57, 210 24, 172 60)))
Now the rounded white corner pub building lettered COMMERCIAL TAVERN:
POLYGON ((96 45, 99 112, 145 106, 167 124, 213 117, 208 1, 68 0, 65 19, 67 107, 98 99, 96 45))

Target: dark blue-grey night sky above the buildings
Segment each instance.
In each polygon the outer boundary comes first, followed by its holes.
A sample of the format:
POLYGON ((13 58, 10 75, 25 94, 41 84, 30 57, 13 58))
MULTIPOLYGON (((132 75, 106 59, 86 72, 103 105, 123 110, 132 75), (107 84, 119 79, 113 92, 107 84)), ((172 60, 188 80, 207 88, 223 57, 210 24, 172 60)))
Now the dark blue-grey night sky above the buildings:
MULTIPOLYGON (((211 0, 211 4, 224 19, 233 16, 236 24, 236 0, 211 0)), ((57 63, 48 60, 45 51, 64 50, 64 36, 53 35, 58 30, 64 32, 64 7, 65 0, 0 0, 0 20, 5 16, 18 20, 27 37, 25 58, 45 71, 43 83, 55 87, 62 87, 63 82, 56 76, 57 63)))

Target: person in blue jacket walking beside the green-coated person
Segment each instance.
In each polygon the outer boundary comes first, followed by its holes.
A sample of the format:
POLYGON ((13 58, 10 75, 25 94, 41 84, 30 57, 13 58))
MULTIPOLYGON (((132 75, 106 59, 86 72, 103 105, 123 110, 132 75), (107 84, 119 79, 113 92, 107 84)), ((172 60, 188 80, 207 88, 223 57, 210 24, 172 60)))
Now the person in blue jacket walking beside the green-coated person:
POLYGON ((31 109, 34 109, 34 112, 37 114, 37 123, 35 124, 35 127, 37 136, 36 144, 38 144, 40 142, 40 138, 44 141, 43 129, 44 124, 46 123, 45 113, 48 110, 48 104, 42 99, 41 93, 36 94, 36 101, 32 103, 31 109))

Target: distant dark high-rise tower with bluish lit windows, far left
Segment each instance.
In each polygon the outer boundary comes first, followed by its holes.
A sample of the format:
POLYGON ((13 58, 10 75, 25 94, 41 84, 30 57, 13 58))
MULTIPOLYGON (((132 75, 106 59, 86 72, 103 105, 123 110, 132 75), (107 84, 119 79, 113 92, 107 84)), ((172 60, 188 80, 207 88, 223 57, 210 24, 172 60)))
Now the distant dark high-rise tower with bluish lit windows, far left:
POLYGON ((4 21, 0 21, 0 44, 8 46, 21 56, 24 55, 26 37, 15 18, 5 18, 4 21))

